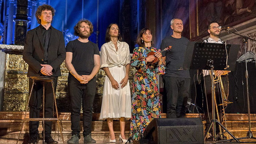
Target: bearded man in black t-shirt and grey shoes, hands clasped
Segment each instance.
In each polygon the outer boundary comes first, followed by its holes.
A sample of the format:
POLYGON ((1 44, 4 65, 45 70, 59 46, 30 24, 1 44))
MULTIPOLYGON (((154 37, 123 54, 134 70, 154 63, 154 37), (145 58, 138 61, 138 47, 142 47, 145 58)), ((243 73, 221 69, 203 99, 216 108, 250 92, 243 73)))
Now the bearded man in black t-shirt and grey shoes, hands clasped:
POLYGON ((66 46, 65 64, 69 70, 67 86, 71 102, 72 137, 67 143, 78 143, 80 139, 80 110, 83 109, 84 143, 96 143, 91 137, 93 100, 96 94, 95 75, 100 69, 100 52, 97 44, 88 40, 93 32, 89 20, 82 19, 74 27, 78 39, 66 46))

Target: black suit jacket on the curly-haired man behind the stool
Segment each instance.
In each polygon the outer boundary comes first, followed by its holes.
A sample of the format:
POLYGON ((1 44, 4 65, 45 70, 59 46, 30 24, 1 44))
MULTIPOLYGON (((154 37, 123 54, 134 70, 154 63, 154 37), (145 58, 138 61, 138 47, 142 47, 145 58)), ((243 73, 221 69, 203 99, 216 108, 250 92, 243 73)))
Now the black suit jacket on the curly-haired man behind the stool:
MULTIPOLYGON (((24 43, 23 59, 28 64, 28 77, 40 76, 40 64, 44 62, 44 47, 42 45, 40 26, 27 32, 24 43)), ((52 77, 61 76, 60 65, 66 57, 65 42, 61 31, 51 27, 51 36, 48 47, 48 65, 53 67, 52 77)))

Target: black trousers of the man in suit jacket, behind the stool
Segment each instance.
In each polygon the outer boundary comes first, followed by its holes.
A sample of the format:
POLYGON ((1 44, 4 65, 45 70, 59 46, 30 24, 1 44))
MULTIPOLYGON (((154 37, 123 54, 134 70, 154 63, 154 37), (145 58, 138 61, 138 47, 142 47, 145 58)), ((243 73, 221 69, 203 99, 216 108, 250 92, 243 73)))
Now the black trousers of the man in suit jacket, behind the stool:
MULTIPOLYGON (((43 75, 42 75, 43 76, 43 75)), ((54 92, 56 92, 56 86, 58 77, 54 77, 54 92)), ((33 84, 33 80, 29 79, 29 89, 31 91, 33 84)), ((32 94, 29 101, 29 117, 30 118, 39 118, 41 100, 43 96, 43 82, 35 81, 32 94)), ((45 118, 52 118, 53 117, 53 87, 51 82, 44 83, 44 117, 45 118)), ((45 136, 51 136, 51 124, 52 121, 45 121, 44 129, 45 129, 45 136)), ((38 135, 38 127, 39 121, 30 121, 29 122, 29 133, 30 136, 38 135)), ((43 133, 43 132, 42 132, 43 133)))

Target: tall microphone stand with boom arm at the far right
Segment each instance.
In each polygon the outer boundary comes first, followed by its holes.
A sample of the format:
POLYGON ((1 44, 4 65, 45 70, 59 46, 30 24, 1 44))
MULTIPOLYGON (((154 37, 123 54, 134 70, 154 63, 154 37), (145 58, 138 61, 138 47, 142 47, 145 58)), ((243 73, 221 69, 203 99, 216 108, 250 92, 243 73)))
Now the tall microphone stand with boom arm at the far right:
MULTIPOLYGON (((247 135, 246 137, 240 137, 240 138, 237 138, 238 140, 240 139, 256 139, 256 137, 253 137, 253 133, 251 131, 251 111, 250 111, 250 99, 249 99, 249 89, 248 89, 248 70, 247 70, 247 56, 246 56, 246 52, 247 52, 247 42, 248 42, 248 39, 249 40, 252 40, 252 41, 255 41, 255 39, 252 39, 252 38, 249 38, 248 36, 244 36, 244 35, 240 35, 240 34, 237 34, 235 32, 232 32, 232 31, 229 31, 229 30, 225 30, 226 32, 228 32, 229 34, 235 34, 235 35, 238 35, 238 36, 241 36, 243 38, 242 42, 244 43, 244 52, 245 52, 245 78, 246 78, 246 91, 247 91, 247 108, 248 108, 248 124, 249 124, 249 131, 247 132, 247 135)), ((231 139, 231 140, 234 140, 234 139, 231 139)), ((223 140, 223 141, 229 141, 229 140, 223 140)))

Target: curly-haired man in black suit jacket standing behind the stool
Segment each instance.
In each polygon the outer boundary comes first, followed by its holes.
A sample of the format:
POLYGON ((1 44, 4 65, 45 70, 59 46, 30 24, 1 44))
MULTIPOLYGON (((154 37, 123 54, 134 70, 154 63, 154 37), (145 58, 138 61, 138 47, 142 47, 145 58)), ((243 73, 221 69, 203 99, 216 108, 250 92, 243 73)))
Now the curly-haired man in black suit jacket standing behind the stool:
MULTIPOLYGON (((23 59, 28 64, 28 77, 46 76, 54 77, 54 88, 56 91, 58 77, 61 76, 60 65, 65 59, 65 42, 61 31, 51 26, 55 9, 44 4, 36 10, 36 19, 40 24, 38 27, 27 32, 24 43, 23 59)), ((32 79, 29 79, 29 89, 32 87, 32 79)), ((42 82, 36 82, 33 87, 29 101, 30 118, 38 118, 43 94, 42 82)), ((45 83, 45 118, 53 117, 53 88, 50 82, 45 83)), ((57 144, 51 137, 52 122, 45 121, 45 142, 57 144)), ((29 122, 30 138, 28 144, 38 143, 39 121, 29 122)), ((43 132, 42 132, 43 134, 43 132)))

